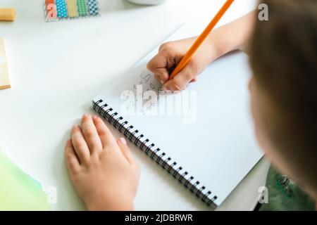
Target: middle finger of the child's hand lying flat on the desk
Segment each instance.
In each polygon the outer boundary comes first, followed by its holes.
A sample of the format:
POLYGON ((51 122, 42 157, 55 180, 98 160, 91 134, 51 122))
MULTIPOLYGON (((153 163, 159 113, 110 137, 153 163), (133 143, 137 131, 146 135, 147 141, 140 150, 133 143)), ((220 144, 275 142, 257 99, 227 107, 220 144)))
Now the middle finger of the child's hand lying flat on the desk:
POLYGON ((92 117, 88 114, 82 116, 82 134, 85 137, 90 152, 101 151, 102 144, 97 132, 97 128, 92 121, 92 117))

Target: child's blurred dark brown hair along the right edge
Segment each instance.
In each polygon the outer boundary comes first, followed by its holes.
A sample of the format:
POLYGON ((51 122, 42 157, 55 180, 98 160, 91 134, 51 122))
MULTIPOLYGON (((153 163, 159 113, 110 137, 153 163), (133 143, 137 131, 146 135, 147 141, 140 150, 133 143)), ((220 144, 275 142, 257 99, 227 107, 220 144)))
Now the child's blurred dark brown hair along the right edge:
POLYGON ((317 0, 262 0, 268 21, 256 18, 250 64, 256 84, 278 109, 266 131, 317 195, 317 0))

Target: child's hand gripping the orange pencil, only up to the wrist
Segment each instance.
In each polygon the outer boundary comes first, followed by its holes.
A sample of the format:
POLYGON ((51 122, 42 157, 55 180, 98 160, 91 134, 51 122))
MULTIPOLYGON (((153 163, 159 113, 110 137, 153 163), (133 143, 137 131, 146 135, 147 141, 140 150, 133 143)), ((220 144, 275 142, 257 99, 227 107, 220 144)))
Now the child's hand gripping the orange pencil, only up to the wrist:
POLYGON ((196 37, 193 37, 162 44, 159 53, 147 64, 147 68, 154 72, 156 79, 163 84, 163 90, 182 91, 186 89, 187 84, 195 82, 197 75, 216 58, 217 53, 213 42, 205 41, 186 67, 173 79, 168 80, 170 72, 178 65, 195 40, 196 37))

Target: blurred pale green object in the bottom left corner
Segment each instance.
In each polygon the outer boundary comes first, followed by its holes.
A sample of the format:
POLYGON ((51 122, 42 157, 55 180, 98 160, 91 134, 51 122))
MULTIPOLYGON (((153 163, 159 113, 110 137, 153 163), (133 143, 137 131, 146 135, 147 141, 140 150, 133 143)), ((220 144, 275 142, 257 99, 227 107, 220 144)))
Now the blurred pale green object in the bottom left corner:
POLYGON ((0 150, 0 210, 49 210, 42 186, 0 150))

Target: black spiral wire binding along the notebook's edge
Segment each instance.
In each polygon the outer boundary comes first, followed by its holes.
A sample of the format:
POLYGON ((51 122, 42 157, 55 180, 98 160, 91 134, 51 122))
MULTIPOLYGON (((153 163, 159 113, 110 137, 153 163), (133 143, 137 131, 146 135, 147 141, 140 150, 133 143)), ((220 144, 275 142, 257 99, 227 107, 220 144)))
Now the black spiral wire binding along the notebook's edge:
POLYGON ((135 143, 145 154, 149 155, 158 165, 166 169, 175 179, 188 188, 190 192, 194 193, 197 198, 200 198, 202 202, 211 207, 216 208, 214 201, 217 199, 216 195, 212 195, 211 191, 207 191, 199 181, 195 180, 193 176, 190 176, 188 172, 183 172, 182 167, 178 166, 177 162, 166 155, 160 148, 155 148, 155 144, 151 143, 144 134, 140 134, 139 130, 135 129, 128 121, 124 120, 117 112, 114 112, 107 103, 103 100, 92 102, 93 109, 107 120, 109 123, 116 127, 121 133, 123 133, 130 141, 135 143))

